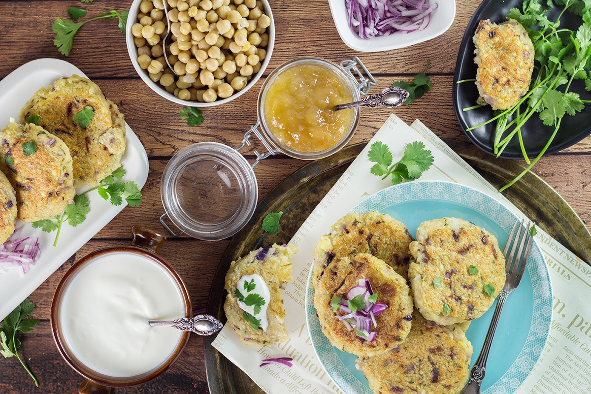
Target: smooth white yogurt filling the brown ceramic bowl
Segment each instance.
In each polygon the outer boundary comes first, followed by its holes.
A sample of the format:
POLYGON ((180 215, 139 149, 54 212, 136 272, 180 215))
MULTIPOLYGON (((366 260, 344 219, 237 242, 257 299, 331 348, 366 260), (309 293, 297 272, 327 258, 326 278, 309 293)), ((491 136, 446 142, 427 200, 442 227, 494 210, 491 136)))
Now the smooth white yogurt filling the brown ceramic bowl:
POLYGON ((165 362, 182 331, 148 320, 184 317, 170 274, 131 252, 102 255, 74 276, 61 303, 61 331, 74 356, 111 377, 148 372, 165 362))

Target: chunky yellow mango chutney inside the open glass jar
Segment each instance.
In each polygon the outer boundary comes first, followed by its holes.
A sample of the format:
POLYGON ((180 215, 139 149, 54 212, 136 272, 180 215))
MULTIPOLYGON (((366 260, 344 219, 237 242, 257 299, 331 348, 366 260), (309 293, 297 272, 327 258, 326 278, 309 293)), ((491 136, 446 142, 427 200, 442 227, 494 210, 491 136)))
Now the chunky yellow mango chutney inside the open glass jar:
POLYGON ((352 131, 358 112, 332 109, 355 101, 355 92, 351 83, 331 67, 294 64, 270 81, 261 115, 278 144, 304 154, 323 152, 352 131))

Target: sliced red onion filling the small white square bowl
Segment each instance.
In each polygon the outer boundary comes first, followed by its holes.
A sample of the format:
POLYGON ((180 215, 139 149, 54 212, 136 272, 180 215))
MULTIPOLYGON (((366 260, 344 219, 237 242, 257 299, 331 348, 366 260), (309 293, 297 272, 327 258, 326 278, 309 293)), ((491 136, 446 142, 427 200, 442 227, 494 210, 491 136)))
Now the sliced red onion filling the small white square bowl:
POLYGON ((349 27, 368 39, 390 35, 395 31, 407 33, 423 30, 431 21, 437 2, 426 0, 345 0, 349 12, 349 27))

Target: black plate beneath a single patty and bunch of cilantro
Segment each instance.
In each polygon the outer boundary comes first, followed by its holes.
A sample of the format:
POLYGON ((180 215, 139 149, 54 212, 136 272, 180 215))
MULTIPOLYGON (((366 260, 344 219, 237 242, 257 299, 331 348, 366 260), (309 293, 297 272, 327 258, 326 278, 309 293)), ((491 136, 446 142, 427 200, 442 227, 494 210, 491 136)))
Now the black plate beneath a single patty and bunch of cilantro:
MULTIPOLYGON (((506 20, 506 15, 511 8, 521 9, 522 0, 485 0, 480 4, 472 19, 466 28, 462 44, 460 45, 459 53, 457 54, 456 72, 453 76, 453 106, 456 111, 456 116, 462 129, 470 140, 485 152, 493 154, 493 141, 495 138, 495 122, 491 122, 486 126, 471 131, 466 129, 479 125, 482 122, 491 119, 493 110, 490 106, 483 106, 463 112, 463 108, 468 108, 476 105, 478 99, 478 89, 473 82, 456 83, 459 80, 474 79, 476 77, 476 64, 474 63, 474 43, 472 37, 476 30, 476 25, 480 19, 490 19, 491 22, 501 23, 506 20)), ((548 18, 554 20, 562 7, 554 8, 548 14, 548 18)), ((576 30, 580 25, 580 17, 565 12, 563 17, 563 25, 576 30)), ((534 71, 535 72, 535 71, 534 71)), ((584 90, 584 83, 582 80, 576 80, 571 84, 572 92, 579 93, 584 100, 591 100, 591 94, 584 90)), ((548 142, 553 128, 544 126, 537 114, 534 114, 527 123, 521 128, 521 134, 524 140, 525 150, 530 158, 536 157, 544 145, 548 142)), ((562 149, 576 144, 581 139, 585 138, 591 133, 591 108, 587 105, 583 112, 577 113, 576 116, 565 115, 560 130, 558 131, 554 141, 547 149, 547 154, 553 154, 562 149)), ((517 135, 514 136, 509 145, 506 146, 502 152, 501 157, 518 159, 522 158, 521 148, 517 135)))

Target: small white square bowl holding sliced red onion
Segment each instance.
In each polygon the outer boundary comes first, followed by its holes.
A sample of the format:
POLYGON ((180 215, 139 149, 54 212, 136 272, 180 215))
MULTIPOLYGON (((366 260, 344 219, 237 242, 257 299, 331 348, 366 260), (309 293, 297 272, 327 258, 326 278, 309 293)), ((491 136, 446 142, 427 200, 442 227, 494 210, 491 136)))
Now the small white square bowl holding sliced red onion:
POLYGON ((397 31, 390 35, 382 35, 366 40, 359 38, 349 27, 349 13, 344 0, 329 0, 329 5, 340 38, 349 48, 359 52, 381 52, 431 40, 431 38, 435 38, 449 29, 456 17, 456 1, 430 0, 430 3, 434 1, 437 1, 437 9, 433 11, 429 25, 423 30, 409 33, 397 31))

